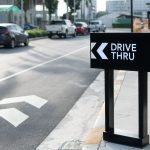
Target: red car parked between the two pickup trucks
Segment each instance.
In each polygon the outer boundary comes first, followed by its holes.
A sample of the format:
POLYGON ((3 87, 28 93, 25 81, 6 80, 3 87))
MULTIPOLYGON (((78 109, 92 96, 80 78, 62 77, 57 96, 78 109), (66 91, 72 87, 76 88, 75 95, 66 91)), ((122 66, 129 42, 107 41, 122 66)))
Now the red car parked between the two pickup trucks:
POLYGON ((76 26, 76 33, 77 34, 88 34, 88 25, 85 22, 75 22, 74 23, 76 26))

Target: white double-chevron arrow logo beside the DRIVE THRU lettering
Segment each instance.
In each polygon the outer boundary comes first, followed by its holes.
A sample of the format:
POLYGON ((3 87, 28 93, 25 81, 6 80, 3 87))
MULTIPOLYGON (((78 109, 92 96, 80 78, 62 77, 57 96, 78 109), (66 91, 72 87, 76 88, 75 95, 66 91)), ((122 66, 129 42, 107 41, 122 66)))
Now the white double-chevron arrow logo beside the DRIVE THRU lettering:
MULTIPOLYGON (((95 44, 96 45, 96 44, 95 44)), ((105 55, 105 53, 103 52, 105 47, 108 45, 108 43, 102 43, 99 48, 97 49, 97 53, 99 54, 99 56, 102 58, 102 59, 108 59, 107 56, 105 55)), ((93 48, 94 46, 92 46, 93 48)), ((93 54, 91 55, 92 57, 91 58, 94 58, 93 57, 93 54)))

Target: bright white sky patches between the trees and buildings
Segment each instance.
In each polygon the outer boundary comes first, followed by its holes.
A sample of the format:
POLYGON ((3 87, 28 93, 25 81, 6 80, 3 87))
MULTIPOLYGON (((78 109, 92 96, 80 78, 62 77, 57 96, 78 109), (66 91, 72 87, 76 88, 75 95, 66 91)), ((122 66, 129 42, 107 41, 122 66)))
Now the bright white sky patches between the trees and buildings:
MULTIPOLYGON (((103 11, 106 9, 106 0, 97 0, 97 12, 103 11)), ((66 13, 67 7, 64 3, 64 0, 59 0, 58 4, 58 16, 62 16, 62 14, 66 13)))

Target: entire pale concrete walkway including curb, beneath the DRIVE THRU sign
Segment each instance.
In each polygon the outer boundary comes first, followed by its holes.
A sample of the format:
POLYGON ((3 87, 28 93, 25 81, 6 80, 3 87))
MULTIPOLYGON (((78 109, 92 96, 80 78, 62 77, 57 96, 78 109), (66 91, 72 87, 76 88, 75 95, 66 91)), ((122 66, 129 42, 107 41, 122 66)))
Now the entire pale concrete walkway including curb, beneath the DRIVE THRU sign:
MULTIPOLYGON (((115 129, 134 137, 138 136, 137 76, 137 72, 115 72, 115 129)), ((139 150, 103 141, 104 118, 104 74, 101 73, 37 150, 139 150)), ((150 150, 150 146, 144 150, 150 150)))

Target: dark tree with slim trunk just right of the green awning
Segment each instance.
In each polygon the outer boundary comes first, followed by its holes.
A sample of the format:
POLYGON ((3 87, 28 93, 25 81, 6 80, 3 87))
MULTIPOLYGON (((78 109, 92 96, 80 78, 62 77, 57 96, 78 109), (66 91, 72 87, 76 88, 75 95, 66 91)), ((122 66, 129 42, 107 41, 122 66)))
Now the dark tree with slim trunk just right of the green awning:
POLYGON ((21 2, 23 3, 23 10, 25 12, 25 22, 26 23, 27 23, 27 11, 29 10, 29 1, 30 0, 16 0, 15 1, 15 5, 18 6, 20 9, 22 9, 21 2))

